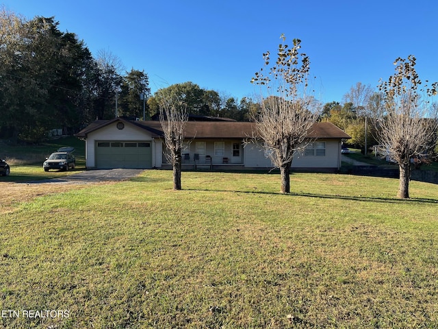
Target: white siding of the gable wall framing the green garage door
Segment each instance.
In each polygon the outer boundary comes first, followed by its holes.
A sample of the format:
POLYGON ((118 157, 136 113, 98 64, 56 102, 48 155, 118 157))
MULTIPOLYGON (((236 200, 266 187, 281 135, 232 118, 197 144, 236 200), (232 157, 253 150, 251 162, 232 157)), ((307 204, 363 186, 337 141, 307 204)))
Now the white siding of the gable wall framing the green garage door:
MULTIPOLYGON (((152 141, 152 136, 146 130, 142 130, 134 125, 125 124, 123 130, 117 129, 117 122, 102 127, 99 130, 90 132, 86 143, 86 167, 96 167, 94 146, 96 141, 152 141)), ((154 159, 152 159, 154 163, 154 159)))

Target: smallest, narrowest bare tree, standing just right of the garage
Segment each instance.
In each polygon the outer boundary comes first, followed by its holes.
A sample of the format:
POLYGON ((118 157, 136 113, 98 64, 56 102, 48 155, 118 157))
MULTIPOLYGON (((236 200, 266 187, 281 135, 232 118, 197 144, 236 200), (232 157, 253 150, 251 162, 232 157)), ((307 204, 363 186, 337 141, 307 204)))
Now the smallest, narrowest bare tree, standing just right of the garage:
POLYGON ((188 121, 185 103, 171 98, 161 99, 159 121, 164 132, 166 158, 173 167, 173 189, 181 190, 181 149, 185 138, 185 125, 188 121))

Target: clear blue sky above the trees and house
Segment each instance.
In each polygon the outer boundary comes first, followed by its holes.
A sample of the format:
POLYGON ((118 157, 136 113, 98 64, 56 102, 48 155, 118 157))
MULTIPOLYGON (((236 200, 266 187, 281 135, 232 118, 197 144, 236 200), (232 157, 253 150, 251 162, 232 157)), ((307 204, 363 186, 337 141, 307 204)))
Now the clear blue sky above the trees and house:
POLYGON ((221 95, 254 97, 251 77, 281 34, 302 40, 315 97, 340 101, 357 82, 378 85, 394 60, 417 58, 422 80, 438 80, 435 0, 3 0, 27 19, 55 16, 96 56, 144 70, 152 91, 191 81, 221 95))

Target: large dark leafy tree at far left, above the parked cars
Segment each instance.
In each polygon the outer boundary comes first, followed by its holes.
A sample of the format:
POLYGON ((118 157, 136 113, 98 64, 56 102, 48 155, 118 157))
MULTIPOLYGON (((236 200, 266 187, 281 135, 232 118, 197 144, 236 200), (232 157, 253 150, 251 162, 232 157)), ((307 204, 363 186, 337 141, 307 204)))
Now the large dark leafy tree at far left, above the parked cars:
POLYGON ((81 125, 90 51, 53 17, 27 21, 0 11, 0 95, 4 136, 38 142, 47 131, 81 125))

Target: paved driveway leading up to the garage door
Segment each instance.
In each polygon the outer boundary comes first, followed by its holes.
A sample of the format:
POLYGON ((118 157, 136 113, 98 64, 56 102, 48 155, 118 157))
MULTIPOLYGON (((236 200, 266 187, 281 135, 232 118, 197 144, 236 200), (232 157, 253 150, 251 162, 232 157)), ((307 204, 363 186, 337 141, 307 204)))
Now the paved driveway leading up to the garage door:
POLYGON ((140 175, 144 169, 95 169, 73 173, 62 178, 53 178, 51 180, 35 180, 27 184, 38 183, 70 183, 70 184, 87 184, 100 182, 120 182, 129 180, 129 178, 140 175))

